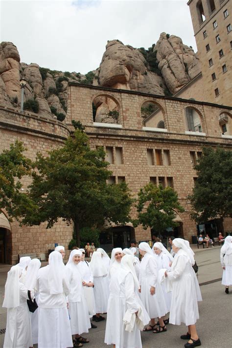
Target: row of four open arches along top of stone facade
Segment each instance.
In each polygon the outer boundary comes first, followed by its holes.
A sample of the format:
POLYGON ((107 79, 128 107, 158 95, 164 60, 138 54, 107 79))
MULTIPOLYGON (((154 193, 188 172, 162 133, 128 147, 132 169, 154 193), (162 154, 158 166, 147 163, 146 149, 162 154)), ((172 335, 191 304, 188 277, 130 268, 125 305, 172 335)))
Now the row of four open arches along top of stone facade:
MULTIPOLYGON (((120 104, 116 98, 109 95, 99 95, 93 98, 93 122, 106 124, 121 124, 120 104)), ((145 100, 140 104, 140 115, 144 127, 166 129, 165 112, 161 104, 153 100, 145 100)), ((232 134, 232 115, 227 112, 219 114, 218 118, 222 134, 232 134)), ((205 132, 204 117, 193 106, 185 108, 185 130, 190 132, 205 132)))

